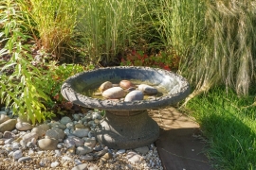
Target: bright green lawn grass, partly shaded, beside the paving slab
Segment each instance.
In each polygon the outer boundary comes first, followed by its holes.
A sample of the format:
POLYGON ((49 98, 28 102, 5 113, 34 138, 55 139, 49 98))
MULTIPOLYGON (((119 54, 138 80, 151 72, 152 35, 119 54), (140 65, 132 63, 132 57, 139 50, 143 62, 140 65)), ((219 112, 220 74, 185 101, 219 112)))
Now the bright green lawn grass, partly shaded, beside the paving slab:
POLYGON ((256 107, 254 96, 239 97, 214 88, 188 103, 208 139, 206 152, 215 169, 256 169, 256 107))

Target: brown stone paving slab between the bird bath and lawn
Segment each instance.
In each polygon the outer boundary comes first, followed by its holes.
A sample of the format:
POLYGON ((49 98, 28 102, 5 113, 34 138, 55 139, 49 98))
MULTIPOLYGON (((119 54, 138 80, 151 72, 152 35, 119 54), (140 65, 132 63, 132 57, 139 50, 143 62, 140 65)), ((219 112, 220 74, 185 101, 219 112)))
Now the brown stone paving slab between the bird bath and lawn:
POLYGON ((213 170, 203 149, 206 146, 199 125, 173 107, 150 110, 160 127, 155 142, 165 170, 213 170))

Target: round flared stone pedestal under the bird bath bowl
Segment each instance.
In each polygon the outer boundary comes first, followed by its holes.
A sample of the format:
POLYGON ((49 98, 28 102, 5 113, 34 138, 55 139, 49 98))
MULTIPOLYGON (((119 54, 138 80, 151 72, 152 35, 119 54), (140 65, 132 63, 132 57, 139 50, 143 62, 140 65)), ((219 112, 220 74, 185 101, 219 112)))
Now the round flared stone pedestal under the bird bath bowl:
POLYGON ((154 143, 159 127, 147 110, 106 110, 96 136, 101 144, 110 148, 136 148, 154 143))

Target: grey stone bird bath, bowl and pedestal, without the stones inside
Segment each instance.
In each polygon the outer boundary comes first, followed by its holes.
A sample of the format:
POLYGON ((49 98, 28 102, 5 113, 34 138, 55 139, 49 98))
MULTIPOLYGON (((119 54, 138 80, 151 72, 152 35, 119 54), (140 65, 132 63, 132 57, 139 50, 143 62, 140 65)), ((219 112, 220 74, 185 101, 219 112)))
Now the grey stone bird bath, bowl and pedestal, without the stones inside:
POLYGON ((64 81, 61 93, 66 100, 74 104, 105 110, 105 116, 95 131, 97 140, 110 148, 128 149, 155 142, 159 136, 159 127, 148 115, 147 110, 176 104, 189 95, 190 85, 184 77, 166 70, 119 66, 70 76, 64 81), (105 81, 119 83, 123 79, 139 80, 141 83, 164 89, 165 93, 131 102, 101 99, 84 94, 99 88, 105 81))

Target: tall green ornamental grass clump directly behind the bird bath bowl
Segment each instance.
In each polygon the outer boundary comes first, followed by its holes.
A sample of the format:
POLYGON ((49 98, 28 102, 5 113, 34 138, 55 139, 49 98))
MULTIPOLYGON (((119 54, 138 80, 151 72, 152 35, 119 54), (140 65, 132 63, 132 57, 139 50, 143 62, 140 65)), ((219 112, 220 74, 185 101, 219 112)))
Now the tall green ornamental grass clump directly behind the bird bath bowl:
POLYGON ((92 62, 111 61, 147 33, 136 0, 81 0, 77 28, 92 62))

